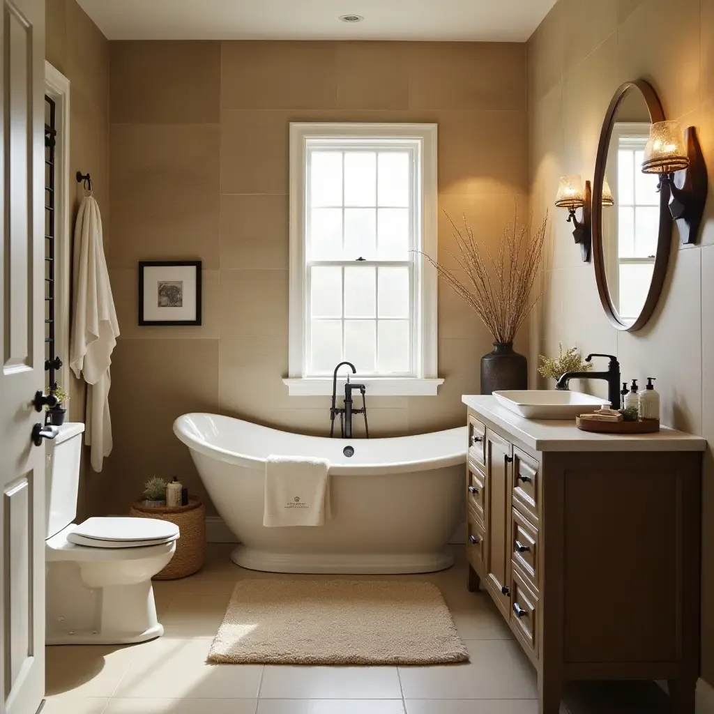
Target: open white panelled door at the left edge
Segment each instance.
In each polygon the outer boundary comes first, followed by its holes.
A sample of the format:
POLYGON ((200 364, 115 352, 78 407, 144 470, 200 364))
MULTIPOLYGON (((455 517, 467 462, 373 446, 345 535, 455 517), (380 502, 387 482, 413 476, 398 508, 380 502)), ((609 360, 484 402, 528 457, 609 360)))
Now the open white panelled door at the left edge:
POLYGON ((0 46, 0 714, 44 695, 44 0, 3 0, 0 46))

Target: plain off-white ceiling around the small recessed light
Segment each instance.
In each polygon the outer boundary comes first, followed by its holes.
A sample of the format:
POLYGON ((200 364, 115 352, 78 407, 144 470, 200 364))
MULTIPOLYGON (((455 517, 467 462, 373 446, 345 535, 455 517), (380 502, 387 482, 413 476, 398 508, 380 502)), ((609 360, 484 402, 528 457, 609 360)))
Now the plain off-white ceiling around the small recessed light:
POLYGON ((555 0, 79 0, 110 40, 526 41, 555 0), (364 20, 347 24, 344 14, 364 20))

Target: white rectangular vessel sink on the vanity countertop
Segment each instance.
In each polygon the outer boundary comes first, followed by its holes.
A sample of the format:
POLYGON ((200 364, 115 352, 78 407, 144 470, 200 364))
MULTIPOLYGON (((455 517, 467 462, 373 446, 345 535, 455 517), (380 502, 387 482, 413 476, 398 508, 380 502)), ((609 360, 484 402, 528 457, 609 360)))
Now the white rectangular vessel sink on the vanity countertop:
POLYGON ((610 406, 607 399, 567 389, 524 389, 494 392, 498 403, 526 419, 574 419, 610 406))

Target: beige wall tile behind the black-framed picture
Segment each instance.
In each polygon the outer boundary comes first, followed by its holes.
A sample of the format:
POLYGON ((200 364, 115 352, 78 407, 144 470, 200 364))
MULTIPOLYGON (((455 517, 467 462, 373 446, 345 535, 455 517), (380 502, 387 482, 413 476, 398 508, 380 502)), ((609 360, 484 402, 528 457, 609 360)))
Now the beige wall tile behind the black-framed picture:
POLYGON ((136 268, 112 268, 109 271, 114 295, 116 319, 121 340, 217 340, 218 339, 217 270, 201 271, 201 325, 177 327, 139 326, 138 273, 136 268))

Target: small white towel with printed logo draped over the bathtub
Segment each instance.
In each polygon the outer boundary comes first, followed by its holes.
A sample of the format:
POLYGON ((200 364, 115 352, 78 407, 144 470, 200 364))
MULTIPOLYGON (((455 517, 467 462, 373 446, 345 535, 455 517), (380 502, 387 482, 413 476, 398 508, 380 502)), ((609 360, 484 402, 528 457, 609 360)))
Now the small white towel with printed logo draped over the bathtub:
POLYGON ((331 517, 330 462, 268 456, 263 526, 322 526, 331 517))

